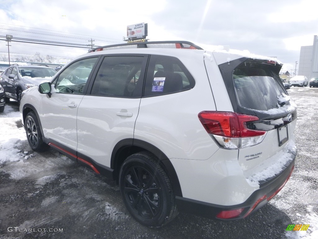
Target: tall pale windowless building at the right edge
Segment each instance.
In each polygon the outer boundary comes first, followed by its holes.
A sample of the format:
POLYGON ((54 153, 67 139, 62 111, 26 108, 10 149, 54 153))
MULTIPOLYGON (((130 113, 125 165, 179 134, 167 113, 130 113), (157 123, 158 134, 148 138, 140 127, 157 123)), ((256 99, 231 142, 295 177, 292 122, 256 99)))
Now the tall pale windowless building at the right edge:
POLYGON ((308 79, 318 77, 318 36, 314 36, 312 46, 300 48, 298 75, 306 76, 308 79))

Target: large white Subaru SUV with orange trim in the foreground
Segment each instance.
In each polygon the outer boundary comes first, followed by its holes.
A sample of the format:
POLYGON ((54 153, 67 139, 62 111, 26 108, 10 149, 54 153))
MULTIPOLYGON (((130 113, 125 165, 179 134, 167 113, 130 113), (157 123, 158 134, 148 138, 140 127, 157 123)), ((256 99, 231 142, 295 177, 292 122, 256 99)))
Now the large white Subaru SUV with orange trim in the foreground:
POLYGON ((49 145, 117 180, 146 226, 178 211, 239 219, 294 168, 296 106, 281 66, 190 42, 99 47, 28 89, 20 112, 33 150, 49 145))

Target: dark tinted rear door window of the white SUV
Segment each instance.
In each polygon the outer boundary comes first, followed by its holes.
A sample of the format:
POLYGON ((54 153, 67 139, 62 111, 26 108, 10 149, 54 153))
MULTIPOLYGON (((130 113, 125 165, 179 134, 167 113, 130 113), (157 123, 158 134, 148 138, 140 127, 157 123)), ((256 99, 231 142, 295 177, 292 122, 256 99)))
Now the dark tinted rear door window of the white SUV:
POLYGON ((93 83, 92 95, 141 97, 143 56, 107 56, 93 83))

